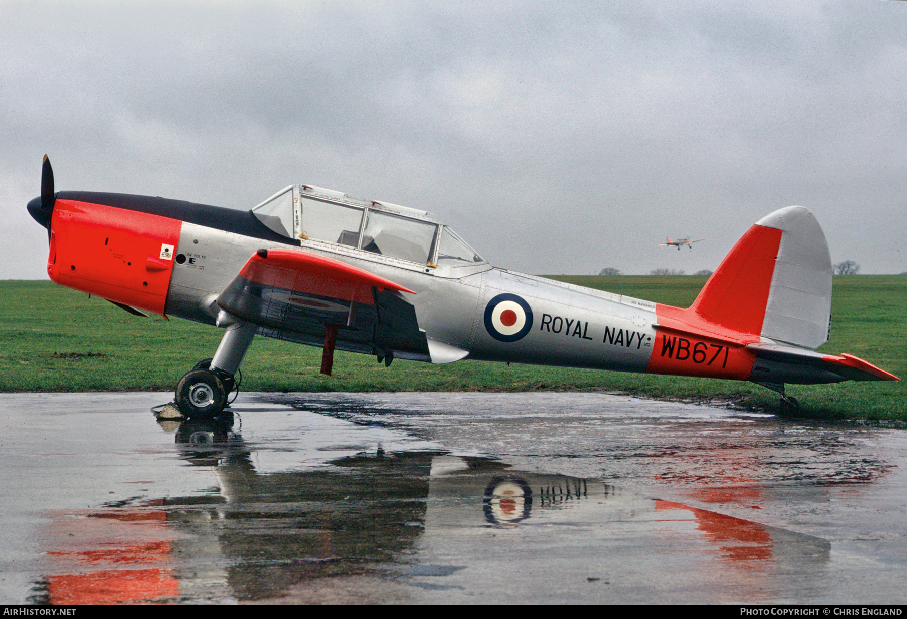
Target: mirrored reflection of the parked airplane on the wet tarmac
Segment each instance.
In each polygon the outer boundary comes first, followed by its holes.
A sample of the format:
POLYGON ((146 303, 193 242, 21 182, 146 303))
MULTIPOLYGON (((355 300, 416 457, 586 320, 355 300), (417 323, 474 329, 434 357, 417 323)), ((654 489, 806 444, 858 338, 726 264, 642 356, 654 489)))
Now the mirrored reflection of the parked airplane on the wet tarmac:
POLYGON ((495 585, 470 576, 479 557, 506 566, 537 552, 545 565, 577 535, 597 557, 633 536, 732 567, 828 558, 828 543, 809 535, 491 458, 377 448, 262 474, 258 447, 229 423, 184 423, 176 441, 187 466, 211 467, 215 486, 49 515, 52 566, 34 601, 233 602, 365 573, 409 575, 413 594, 438 588, 425 581, 437 575, 481 590, 495 585))

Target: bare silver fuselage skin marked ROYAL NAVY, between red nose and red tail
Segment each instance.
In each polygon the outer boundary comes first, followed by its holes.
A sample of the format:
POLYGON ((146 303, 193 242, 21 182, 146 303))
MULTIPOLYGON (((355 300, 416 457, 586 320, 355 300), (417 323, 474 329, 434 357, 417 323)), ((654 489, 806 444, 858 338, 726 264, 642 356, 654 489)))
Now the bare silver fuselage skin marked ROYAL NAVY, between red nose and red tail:
MULTIPOLYGON (((214 324, 215 302, 249 256, 268 241, 183 222, 166 311, 214 324)), ((555 280, 493 268, 487 262, 427 268, 356 248, 301 241, 299 251, 342 260, 414 290, 425 335, 468 351, 465 359, 574 368, 644 371, 655 338, 655 304, 555 280), (532 328, 518 341, 501 342, 487 332, 483 312, 501 293, 519 295, 532 306, 532 328)), ((313 341, 313 344, 316 342, 313 341)), ((337 348, 343 349, 340 342, 337 348)))

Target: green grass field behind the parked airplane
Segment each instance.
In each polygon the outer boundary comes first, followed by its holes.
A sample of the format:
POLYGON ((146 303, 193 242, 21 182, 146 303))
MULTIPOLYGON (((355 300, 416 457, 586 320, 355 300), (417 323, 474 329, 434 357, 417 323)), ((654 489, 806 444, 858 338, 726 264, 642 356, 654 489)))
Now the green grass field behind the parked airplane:
MULTIPOLYGON (((551 276, 552 279, 688 307, 705 277, 551 276)), ((820 351, 849 352, 907 376, 907 276, 835 276, 832 337, 820 351)), ((141 319, 50 281, 0 281, 0 391, 170 390, 210 357, 221 331, 188 320, 141 319)), ((646 398, 727 401, 775 412, 777 396, 752 383, 598 370, 463 361, 445 366, 321 351, 257 338, 243 363, 249 391, 619 391, 646 398)), ((801 416, 907 419, 905 382, 844 382, 787 388, 801 416)))

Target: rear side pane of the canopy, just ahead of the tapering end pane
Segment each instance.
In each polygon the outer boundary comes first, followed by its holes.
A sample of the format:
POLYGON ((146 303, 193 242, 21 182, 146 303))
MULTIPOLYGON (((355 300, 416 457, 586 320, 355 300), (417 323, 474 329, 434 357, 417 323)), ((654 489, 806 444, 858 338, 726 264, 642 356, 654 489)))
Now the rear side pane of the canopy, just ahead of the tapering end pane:
POLYGON ((437 225, 383 211, 368 211, 362 249, 426 264, 434 250, 437 225))

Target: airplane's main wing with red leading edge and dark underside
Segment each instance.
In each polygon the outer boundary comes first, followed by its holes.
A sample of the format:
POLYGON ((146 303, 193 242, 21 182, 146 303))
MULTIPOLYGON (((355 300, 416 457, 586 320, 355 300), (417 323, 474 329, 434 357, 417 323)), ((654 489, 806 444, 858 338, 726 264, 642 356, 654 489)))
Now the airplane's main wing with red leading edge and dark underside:
POLYGON ((318 254, 259 250, 220 293, 218 305, 258 325, 259 335, 324 346, 322 371, 329 374, 335 346, 388 364, 395 357, 431 360, 415 309, 401 292, 415 294, 318 254))

